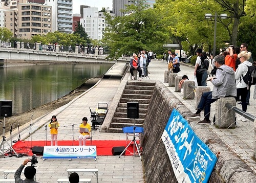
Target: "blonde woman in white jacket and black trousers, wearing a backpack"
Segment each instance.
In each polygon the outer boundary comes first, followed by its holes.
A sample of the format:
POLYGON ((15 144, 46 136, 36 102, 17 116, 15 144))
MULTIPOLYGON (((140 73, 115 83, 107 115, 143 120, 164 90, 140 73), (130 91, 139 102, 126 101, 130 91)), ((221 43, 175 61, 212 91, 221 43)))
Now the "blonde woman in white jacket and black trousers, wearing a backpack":
POLYGON ((236 72, 234 73, 234 79, 236 79, 237 84, 237 97, 236 100, 239 99, 241 96, 241 102, 242 102, 242 110, 246 112, 247 110, 247 103, 246 103, 246 97, 248 94, 248 85, 244 81, 244 77, 248 72, 248 66, 251 66, 252 63, 248 61, 248 59, 251 57, 251 52, 245 52, 242 51, 240 54, 238 54, 238 58, 241 61, 241 64, 238 65, 238 68, 236 72))

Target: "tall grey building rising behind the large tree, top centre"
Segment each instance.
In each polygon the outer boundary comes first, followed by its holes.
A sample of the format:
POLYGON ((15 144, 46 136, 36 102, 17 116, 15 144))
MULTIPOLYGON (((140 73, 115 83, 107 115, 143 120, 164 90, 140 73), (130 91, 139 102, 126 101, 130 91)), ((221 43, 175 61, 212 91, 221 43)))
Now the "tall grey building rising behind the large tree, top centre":
MULTIPOLYGON (((120 12, 121 9, 125 10, 125 5, 135 4, 136 0, 113 0, 113 11, 115 16, 124 16, 123 13, 120 12)), ((145 1, 146 5, 150 5, 150 8, 153 8, 153 5, 156 3, 156 0, 145 1)))

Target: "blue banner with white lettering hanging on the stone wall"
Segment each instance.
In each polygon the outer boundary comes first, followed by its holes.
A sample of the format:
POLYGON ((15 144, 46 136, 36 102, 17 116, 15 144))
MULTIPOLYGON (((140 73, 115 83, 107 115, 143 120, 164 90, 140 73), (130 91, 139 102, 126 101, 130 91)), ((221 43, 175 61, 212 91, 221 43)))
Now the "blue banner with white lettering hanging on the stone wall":
POLYGON ((179 183, 207 183, 217 162, 188 122, 173 110, 161 137, 179 183))

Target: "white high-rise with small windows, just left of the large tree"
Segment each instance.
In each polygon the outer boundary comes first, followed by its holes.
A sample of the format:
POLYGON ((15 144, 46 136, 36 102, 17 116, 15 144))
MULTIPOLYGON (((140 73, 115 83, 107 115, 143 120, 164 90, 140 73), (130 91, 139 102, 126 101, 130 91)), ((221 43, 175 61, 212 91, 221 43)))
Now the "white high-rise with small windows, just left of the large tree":
MULTIPOLYGON (((111 16, 115 16, 111 10, 105 10, 111 16)), ((86 30, 86 33, 91 39, 100 40, 103 38, 105 24, 104 10, 98 12, 98 8, 83 8, 83 17, 80 19, 80 24, 86 30)))

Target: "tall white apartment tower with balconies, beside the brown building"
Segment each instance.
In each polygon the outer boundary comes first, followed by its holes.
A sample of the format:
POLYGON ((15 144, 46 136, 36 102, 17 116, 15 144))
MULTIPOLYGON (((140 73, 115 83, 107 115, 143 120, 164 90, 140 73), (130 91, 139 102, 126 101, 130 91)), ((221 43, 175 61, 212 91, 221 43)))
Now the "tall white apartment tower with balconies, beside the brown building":
POLYGON ((52 7, 52 32, 72 33, 72 0, 46 0, 45 5, 52 7))

